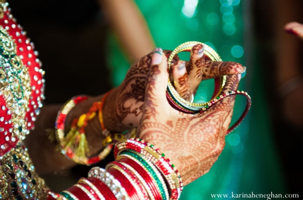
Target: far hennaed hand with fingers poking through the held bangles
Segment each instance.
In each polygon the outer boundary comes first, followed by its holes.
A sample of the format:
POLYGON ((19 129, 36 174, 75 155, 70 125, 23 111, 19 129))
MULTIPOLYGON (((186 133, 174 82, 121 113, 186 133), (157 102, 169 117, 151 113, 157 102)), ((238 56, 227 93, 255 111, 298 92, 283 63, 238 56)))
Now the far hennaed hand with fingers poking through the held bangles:
MULTIPOLYGON (((164 51, 166 56, 171 51, 164 51)), ((135 62, 122 84, 115 89, 106 102, 104 111, 104 121, 106 127, 110 130, 121 131, 127 128, 138 127, 142 118, 143 102, 145 97, 146 76, 150 71, 151 56, 146 56, 135 62)), ((204 48, 198 44, 192 48, 190 61, 186 62, 185 68, 179 66, 178 56, 175 56, 173 62, 173 80, 177 92, 184 99, 189 99, 202 79, 212 79, 222 75, 239 74, 245 71, 245 68, 236 62, 216 62, 205 60, 204 48)))

